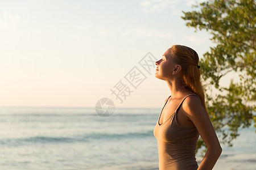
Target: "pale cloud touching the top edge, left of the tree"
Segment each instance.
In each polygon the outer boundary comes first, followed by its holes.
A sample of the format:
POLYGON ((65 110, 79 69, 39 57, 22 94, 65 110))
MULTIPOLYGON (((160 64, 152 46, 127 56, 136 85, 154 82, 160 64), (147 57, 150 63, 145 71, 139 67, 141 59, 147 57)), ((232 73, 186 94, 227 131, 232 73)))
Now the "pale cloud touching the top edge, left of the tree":
POLYGON ((141 11, 150 13, 160 12, 166 8, 175 8, 178 2, 178 0, 139 0, 139 5, 141 5, 141 11))

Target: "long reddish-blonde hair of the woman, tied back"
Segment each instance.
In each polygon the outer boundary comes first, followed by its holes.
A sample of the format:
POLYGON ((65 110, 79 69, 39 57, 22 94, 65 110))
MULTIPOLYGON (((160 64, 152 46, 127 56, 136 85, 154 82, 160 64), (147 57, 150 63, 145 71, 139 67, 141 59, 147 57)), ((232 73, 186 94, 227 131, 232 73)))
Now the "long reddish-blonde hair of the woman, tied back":
POLYGON ((184 88, 188 88, 200 97, 201 103, 205 107, 204 88, 200 80, 199 57, 195 50, 184 45, 173 45, 170 54, 174 62, 181 65, 181 82, 184 88))

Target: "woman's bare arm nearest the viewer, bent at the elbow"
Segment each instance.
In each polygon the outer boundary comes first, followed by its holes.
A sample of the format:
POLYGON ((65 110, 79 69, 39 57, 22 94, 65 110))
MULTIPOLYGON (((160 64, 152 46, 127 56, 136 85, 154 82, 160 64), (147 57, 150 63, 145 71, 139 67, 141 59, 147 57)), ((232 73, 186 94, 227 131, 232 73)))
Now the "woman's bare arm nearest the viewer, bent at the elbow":
POLYGON ((221 155, 222 148, 201 101, 196 96, 189 96, 184 100, 183 109, 187 117, 193 122, 205 145, 207 152, 198 169, 212 169, 221 155))

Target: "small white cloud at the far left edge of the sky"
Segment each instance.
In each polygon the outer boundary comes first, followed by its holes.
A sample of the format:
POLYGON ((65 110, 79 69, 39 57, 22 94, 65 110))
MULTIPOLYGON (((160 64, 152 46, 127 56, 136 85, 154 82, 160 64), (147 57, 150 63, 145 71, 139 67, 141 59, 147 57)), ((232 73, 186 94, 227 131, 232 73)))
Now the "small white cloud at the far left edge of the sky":
POLYGON ((20 23, 20 17, 18 15, 14 16, 10 14, 9 11, 4 11, 0 14, 0 28, 9 29, 14 25, 20 23))

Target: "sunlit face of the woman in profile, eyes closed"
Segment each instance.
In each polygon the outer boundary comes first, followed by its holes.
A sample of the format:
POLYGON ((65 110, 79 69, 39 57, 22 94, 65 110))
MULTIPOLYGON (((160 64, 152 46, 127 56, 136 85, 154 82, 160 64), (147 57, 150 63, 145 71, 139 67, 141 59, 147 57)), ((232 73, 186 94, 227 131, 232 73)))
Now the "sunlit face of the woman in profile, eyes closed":
POLYGON ((170 79, 172 75, 172 69, 174 68, 174 63, 172 62, 172 57, 169 53, 168 49, 161 59, 155 62, 156 64, 156 72, 155 77, 158 79, 166 80, 170 79))

